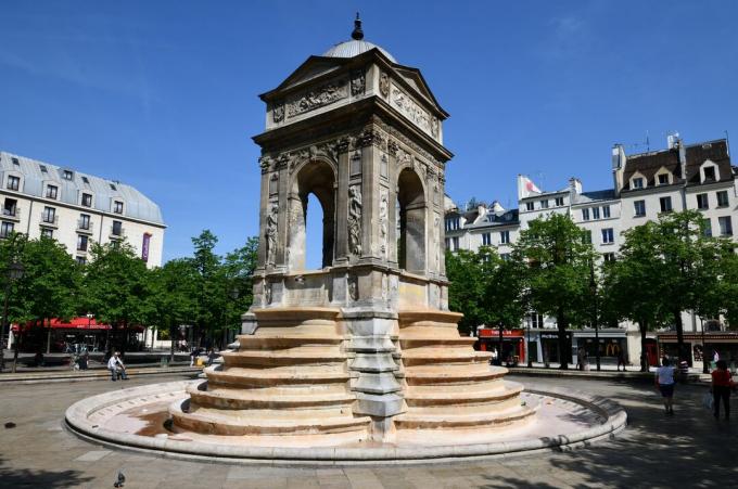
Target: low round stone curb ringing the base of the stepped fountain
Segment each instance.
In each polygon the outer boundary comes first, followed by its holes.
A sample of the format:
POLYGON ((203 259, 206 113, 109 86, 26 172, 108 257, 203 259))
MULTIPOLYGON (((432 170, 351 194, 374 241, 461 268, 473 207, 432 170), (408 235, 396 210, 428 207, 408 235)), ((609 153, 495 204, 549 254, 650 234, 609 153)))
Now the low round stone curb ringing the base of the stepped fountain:
POLYGON ((184 395, 184 388, 193 382, 179 381, 152 384, 124 390, 115 390, 82 399, 72 404, 65 421, 78 436, 93 442, 103 442, 115 448, 157 452, 158 455, 211 460, 221 462, 267 463, 287 465, 354 465, 354 464, 406 464, 443 461, 473 460, 532 454, 542 451, 573 449, 614 436, 625 428, 625 410, 609 399, 589 396, 570 389, 527 389, 527 393, 568 400, 586 407, 606 421, 590 428, 555 437, 533 438, 493 443, 411 446, 411 447, 245 447, 232 445, 203 443, 198 441, 173 440, 100 427, 90 416, 101 410, 113 412, 136 406, 133 399, 148 398, 150 401, 165 401, 184 395))

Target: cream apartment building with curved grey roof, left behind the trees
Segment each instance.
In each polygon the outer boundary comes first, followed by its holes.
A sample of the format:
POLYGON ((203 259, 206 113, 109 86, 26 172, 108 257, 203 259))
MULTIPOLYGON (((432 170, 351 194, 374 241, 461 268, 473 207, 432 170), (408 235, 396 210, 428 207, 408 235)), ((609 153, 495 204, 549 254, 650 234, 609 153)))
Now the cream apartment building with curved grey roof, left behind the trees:
POLYGON ((53 237, 81 263, 92 242, 127 240, 149 267, 162 265, 162 211, 125 183, 0 152, 0 239, 53 237))

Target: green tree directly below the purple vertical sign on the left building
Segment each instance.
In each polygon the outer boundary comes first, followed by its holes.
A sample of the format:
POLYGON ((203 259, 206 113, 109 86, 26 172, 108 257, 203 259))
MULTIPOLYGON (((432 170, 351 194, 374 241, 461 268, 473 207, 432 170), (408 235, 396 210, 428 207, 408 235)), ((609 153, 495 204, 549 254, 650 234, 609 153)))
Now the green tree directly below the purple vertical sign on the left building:
POLYGON ((152 317, 150 271, 125 241, 94 243, 91 255, 84 279, 82 310, 111 324, 113 343, 125 351, 130 327, 143 325, 152 317))

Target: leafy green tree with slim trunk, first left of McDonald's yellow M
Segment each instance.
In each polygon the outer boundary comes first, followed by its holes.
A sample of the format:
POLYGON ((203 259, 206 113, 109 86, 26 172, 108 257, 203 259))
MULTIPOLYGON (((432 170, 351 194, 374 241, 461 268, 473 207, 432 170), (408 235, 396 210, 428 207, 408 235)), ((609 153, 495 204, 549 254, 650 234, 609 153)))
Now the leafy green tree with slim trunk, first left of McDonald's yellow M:
POLYGON ((571 355, 567 329, 589 316, 589 267, 595 250, 587 233, 562 214, 531 221, 514 249, 527 261, 531 306, 557 319, 561 369, 565 370, 571 355))

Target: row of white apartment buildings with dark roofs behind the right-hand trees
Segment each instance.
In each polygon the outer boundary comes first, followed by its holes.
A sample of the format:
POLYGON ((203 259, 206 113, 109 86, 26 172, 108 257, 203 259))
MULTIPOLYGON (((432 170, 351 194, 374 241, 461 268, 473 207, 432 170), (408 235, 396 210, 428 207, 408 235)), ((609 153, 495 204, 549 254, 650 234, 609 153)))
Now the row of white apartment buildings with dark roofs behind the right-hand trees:
MULTIPOLYGON (((736 239, 738 168, 730 163, 726 139, 686 144, 675 134, 670 136, 665 150, 631 155, 616 144, 612 150, 611 169, 613 186, 598 191, 584 191, 576 178, 570 179, 561 190, 540 191, 530 179, 519 176, 517 209, 505 209, 498 202, 462 209, 449 198, 446 203, 446 248, 476 250, 488 245, 505 257, 529 222, 554 213, 571 216, 578 227, 588 231, 602 260, 618 258, 624 231, 656 220, 662 213, 698 209, 711 235, 736 239)), ((689 311, 683 312, 685 330, 691 331, 694 337, 698 337, 703 320, 689 311)), ((713 329, 721 329, 714 321, 711 324, 713 329)), ((532 311, 522 326, 529 330, 526 351, 534 361, 557 361, 556 338, 546 331, 556 327, 556 319, 532 311)), ((620 326, 603 332, 600 342, 607 345, 602 349, 613 356, 622 349, 631 362, 637 363, 640 355, 637 325, 625 322, 620 326)), ((573 331, 572 336, 574 359, 577 348, 594 345, 591 331, 573 331)), ((713 344, 709 342, 710 337, 704 345, 692 342, 695 361, 701 361, 702 351, 711 348, 720 348, 724 355, 735 350, 738 358, 738 339, 726 336, 714 339, 713 344), (716 346, 720 342, 724 344, 716 346)), ((663 348, 653 351, 652 358, 663 351, 663 348)))

